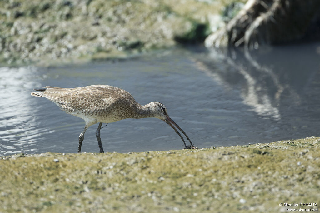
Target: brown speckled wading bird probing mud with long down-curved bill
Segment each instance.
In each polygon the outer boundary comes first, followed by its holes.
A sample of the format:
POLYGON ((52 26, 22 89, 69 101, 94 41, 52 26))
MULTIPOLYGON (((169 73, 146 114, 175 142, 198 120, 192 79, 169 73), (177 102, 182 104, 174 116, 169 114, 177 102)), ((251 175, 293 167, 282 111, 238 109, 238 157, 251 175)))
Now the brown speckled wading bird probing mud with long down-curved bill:
POLYGON ((112 123, 125 118, 159 118, 169 124, 182 139, 187 149, 194 149, 187 134, 169 117, 167 108, 160 102, 151 102, 141 106, 132 95, 120 88, 108 85, 91 85, 76 88, 44 87, 36 90, 31 95, 44 97, 58 105, 61 110, 72 114, 85 121, 84 130, 79 136, 78 153, 81 152, 84 133, 91 125, 99 123, 96 131, 100 153, 103 148, 100 139, 102 123, 112 123), (189 140, 191 145, 186 145, 176 126, 189 140))

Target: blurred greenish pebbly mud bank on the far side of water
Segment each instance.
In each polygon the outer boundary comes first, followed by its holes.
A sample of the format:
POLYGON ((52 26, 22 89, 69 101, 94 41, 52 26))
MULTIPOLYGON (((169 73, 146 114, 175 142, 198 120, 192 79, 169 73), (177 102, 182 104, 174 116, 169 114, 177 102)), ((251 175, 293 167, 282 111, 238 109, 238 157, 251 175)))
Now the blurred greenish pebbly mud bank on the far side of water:
MULTIPOLYGON (((0 1, 5 63, 121 58, 178 42, 202 42, 224 1, 0 1)), ((244 2, 244 1, 243 1, 244 2)))

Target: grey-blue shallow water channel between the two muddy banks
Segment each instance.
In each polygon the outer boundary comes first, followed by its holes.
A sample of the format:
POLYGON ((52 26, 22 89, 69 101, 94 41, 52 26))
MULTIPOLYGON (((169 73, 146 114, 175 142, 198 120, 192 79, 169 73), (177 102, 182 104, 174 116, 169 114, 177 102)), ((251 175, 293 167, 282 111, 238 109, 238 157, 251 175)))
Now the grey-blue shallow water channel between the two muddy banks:
MULTIPOLYGON (((319 59, 320 44, 312 43, 250 54, 192 48, 115 63, 0 67, 0 155, 76 153, 84 121, 30 95, 44 86, 108 84, 129 91, 142 105, 159 101, 197 147, 319 136, 319 59)), ((83 152, 99 152, 97 126, 86 131, 83 152)), ((156 118, 109 123, 101 140, 105 152, 184 147, 156 118)))

